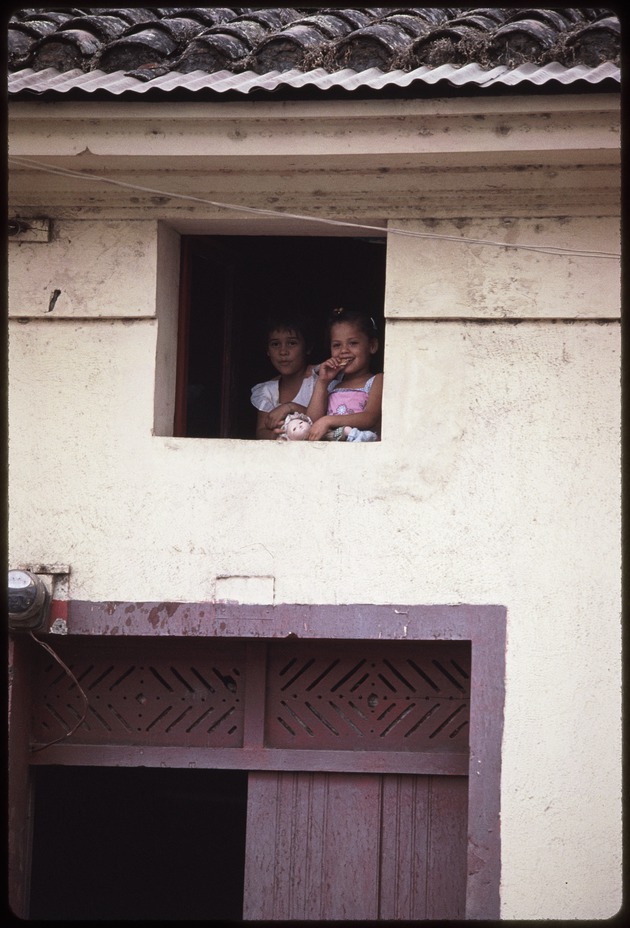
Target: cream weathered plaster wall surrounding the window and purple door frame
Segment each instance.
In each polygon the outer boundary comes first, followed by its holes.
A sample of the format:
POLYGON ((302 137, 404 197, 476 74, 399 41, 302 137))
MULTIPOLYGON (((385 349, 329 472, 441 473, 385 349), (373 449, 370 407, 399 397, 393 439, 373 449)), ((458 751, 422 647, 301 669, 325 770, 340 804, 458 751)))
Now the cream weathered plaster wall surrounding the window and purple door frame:
MULTIPOLYGON (((533 225, 511 229, 526 240, 533 225)), ((617 234, 567 221, 543 237, 560 229, 566 247, 617 234)), ((12 562, 68 563, 70 595, 88 600, 504 604, 502 916, 612 915, 618 265, 495 249, 488 269, 485 249, 392 236, 383 441, 205 441, 153 434, 168 354, 153 316, 177 237, 158 247, 150 222, 59 233, 11 249, 12 562), (480 321, 449 318, 471 304, 480 321)))

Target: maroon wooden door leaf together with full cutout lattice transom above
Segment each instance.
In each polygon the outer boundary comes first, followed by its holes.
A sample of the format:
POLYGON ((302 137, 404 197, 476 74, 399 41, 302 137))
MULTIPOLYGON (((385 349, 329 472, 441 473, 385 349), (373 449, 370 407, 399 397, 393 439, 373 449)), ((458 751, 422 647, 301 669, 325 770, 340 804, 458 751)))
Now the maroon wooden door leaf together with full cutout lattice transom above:
POLYGON ((250 771, 246 920, 464 917, 470 642, 57 648, 86 716, 46 654, 32 763, 250 771))

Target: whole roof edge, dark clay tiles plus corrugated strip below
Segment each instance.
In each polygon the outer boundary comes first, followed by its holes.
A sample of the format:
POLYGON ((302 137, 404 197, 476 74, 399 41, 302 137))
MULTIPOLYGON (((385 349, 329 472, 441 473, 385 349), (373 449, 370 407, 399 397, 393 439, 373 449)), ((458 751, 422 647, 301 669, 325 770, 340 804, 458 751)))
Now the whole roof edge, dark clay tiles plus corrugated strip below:
POLYGON ((12 98, 620 81, 620 24, 591 8, 25 9, 12 98))

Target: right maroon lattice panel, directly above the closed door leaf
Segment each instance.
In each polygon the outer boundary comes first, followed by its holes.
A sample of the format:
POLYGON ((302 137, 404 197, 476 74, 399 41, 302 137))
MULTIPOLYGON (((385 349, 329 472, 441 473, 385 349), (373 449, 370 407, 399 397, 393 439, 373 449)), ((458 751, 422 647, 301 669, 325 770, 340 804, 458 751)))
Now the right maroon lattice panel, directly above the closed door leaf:
POLYGON ((278 642, 265 744, 364 751, 468 749, 470 642, 278 642))

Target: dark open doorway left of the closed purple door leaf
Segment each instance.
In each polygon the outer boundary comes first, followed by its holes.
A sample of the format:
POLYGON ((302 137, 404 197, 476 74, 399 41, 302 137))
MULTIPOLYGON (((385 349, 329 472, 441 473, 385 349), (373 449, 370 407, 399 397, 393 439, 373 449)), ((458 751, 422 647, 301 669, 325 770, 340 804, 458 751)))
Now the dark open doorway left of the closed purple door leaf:
POLYGON ((39 767, 30 918, 239 921, 247 773, 39 767))

